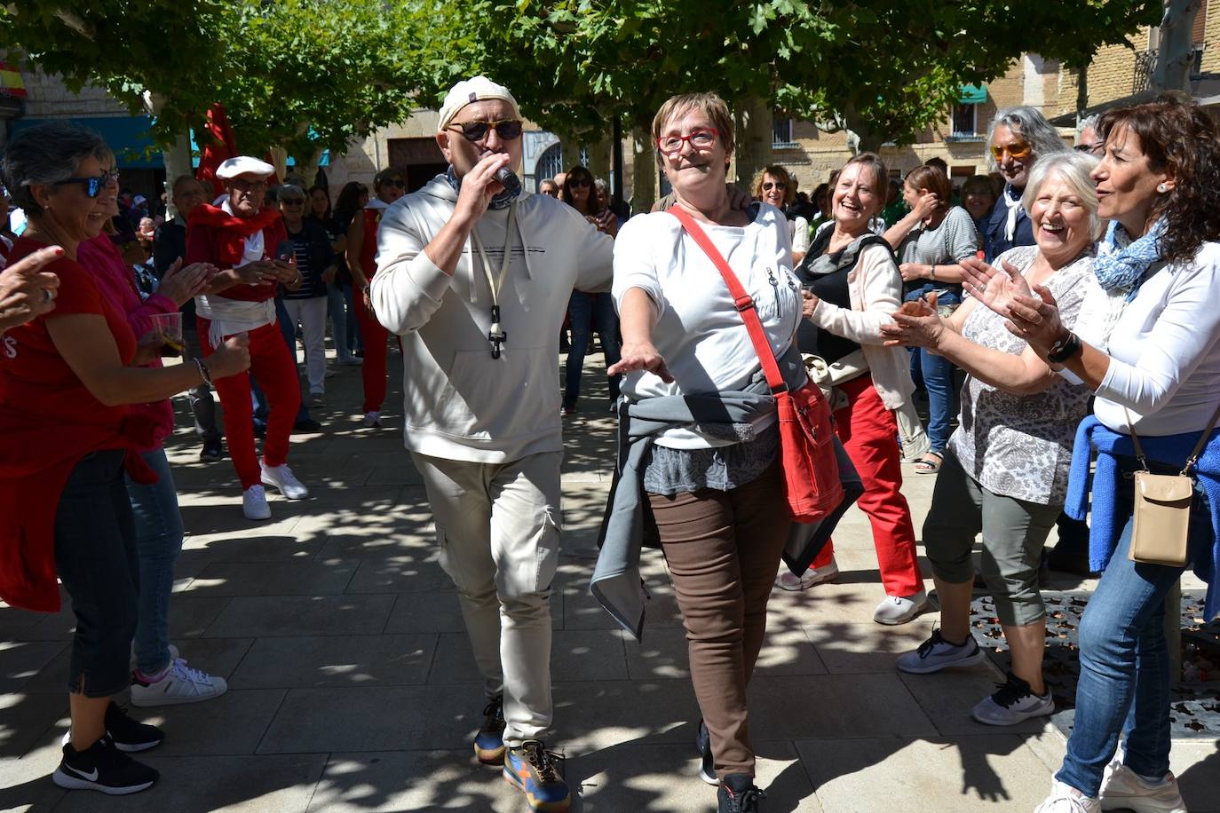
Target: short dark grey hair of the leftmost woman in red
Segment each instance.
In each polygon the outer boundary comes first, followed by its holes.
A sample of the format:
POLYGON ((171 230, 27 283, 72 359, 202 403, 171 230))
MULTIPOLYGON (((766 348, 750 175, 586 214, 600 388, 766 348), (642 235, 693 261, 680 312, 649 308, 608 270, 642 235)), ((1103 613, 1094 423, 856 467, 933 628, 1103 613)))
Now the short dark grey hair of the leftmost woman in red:
POLYGON ((76 176, 82 161, 109 163, 113 157, 106 141, 90 129, 65 122, 37 124, 9 143, 0 158, 0 179, 13 202, 37 216, 43 207, 29 190, 32 184, 55 184, 76 176))

